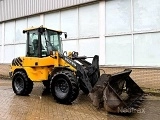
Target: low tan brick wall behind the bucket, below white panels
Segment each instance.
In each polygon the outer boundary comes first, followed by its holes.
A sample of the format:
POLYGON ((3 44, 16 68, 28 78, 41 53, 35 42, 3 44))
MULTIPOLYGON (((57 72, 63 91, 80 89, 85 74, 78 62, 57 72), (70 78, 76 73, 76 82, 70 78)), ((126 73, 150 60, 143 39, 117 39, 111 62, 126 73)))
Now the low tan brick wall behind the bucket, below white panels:
MULTIPOLYGON (((121 72, 127 67, 101 67, 107 74, 121 72)), ((103 71, 101 71, 103 73, 103 71)), ((132 68, 130 77, 142 88, 160 89, 160 70, 153 68, 132 68)))

